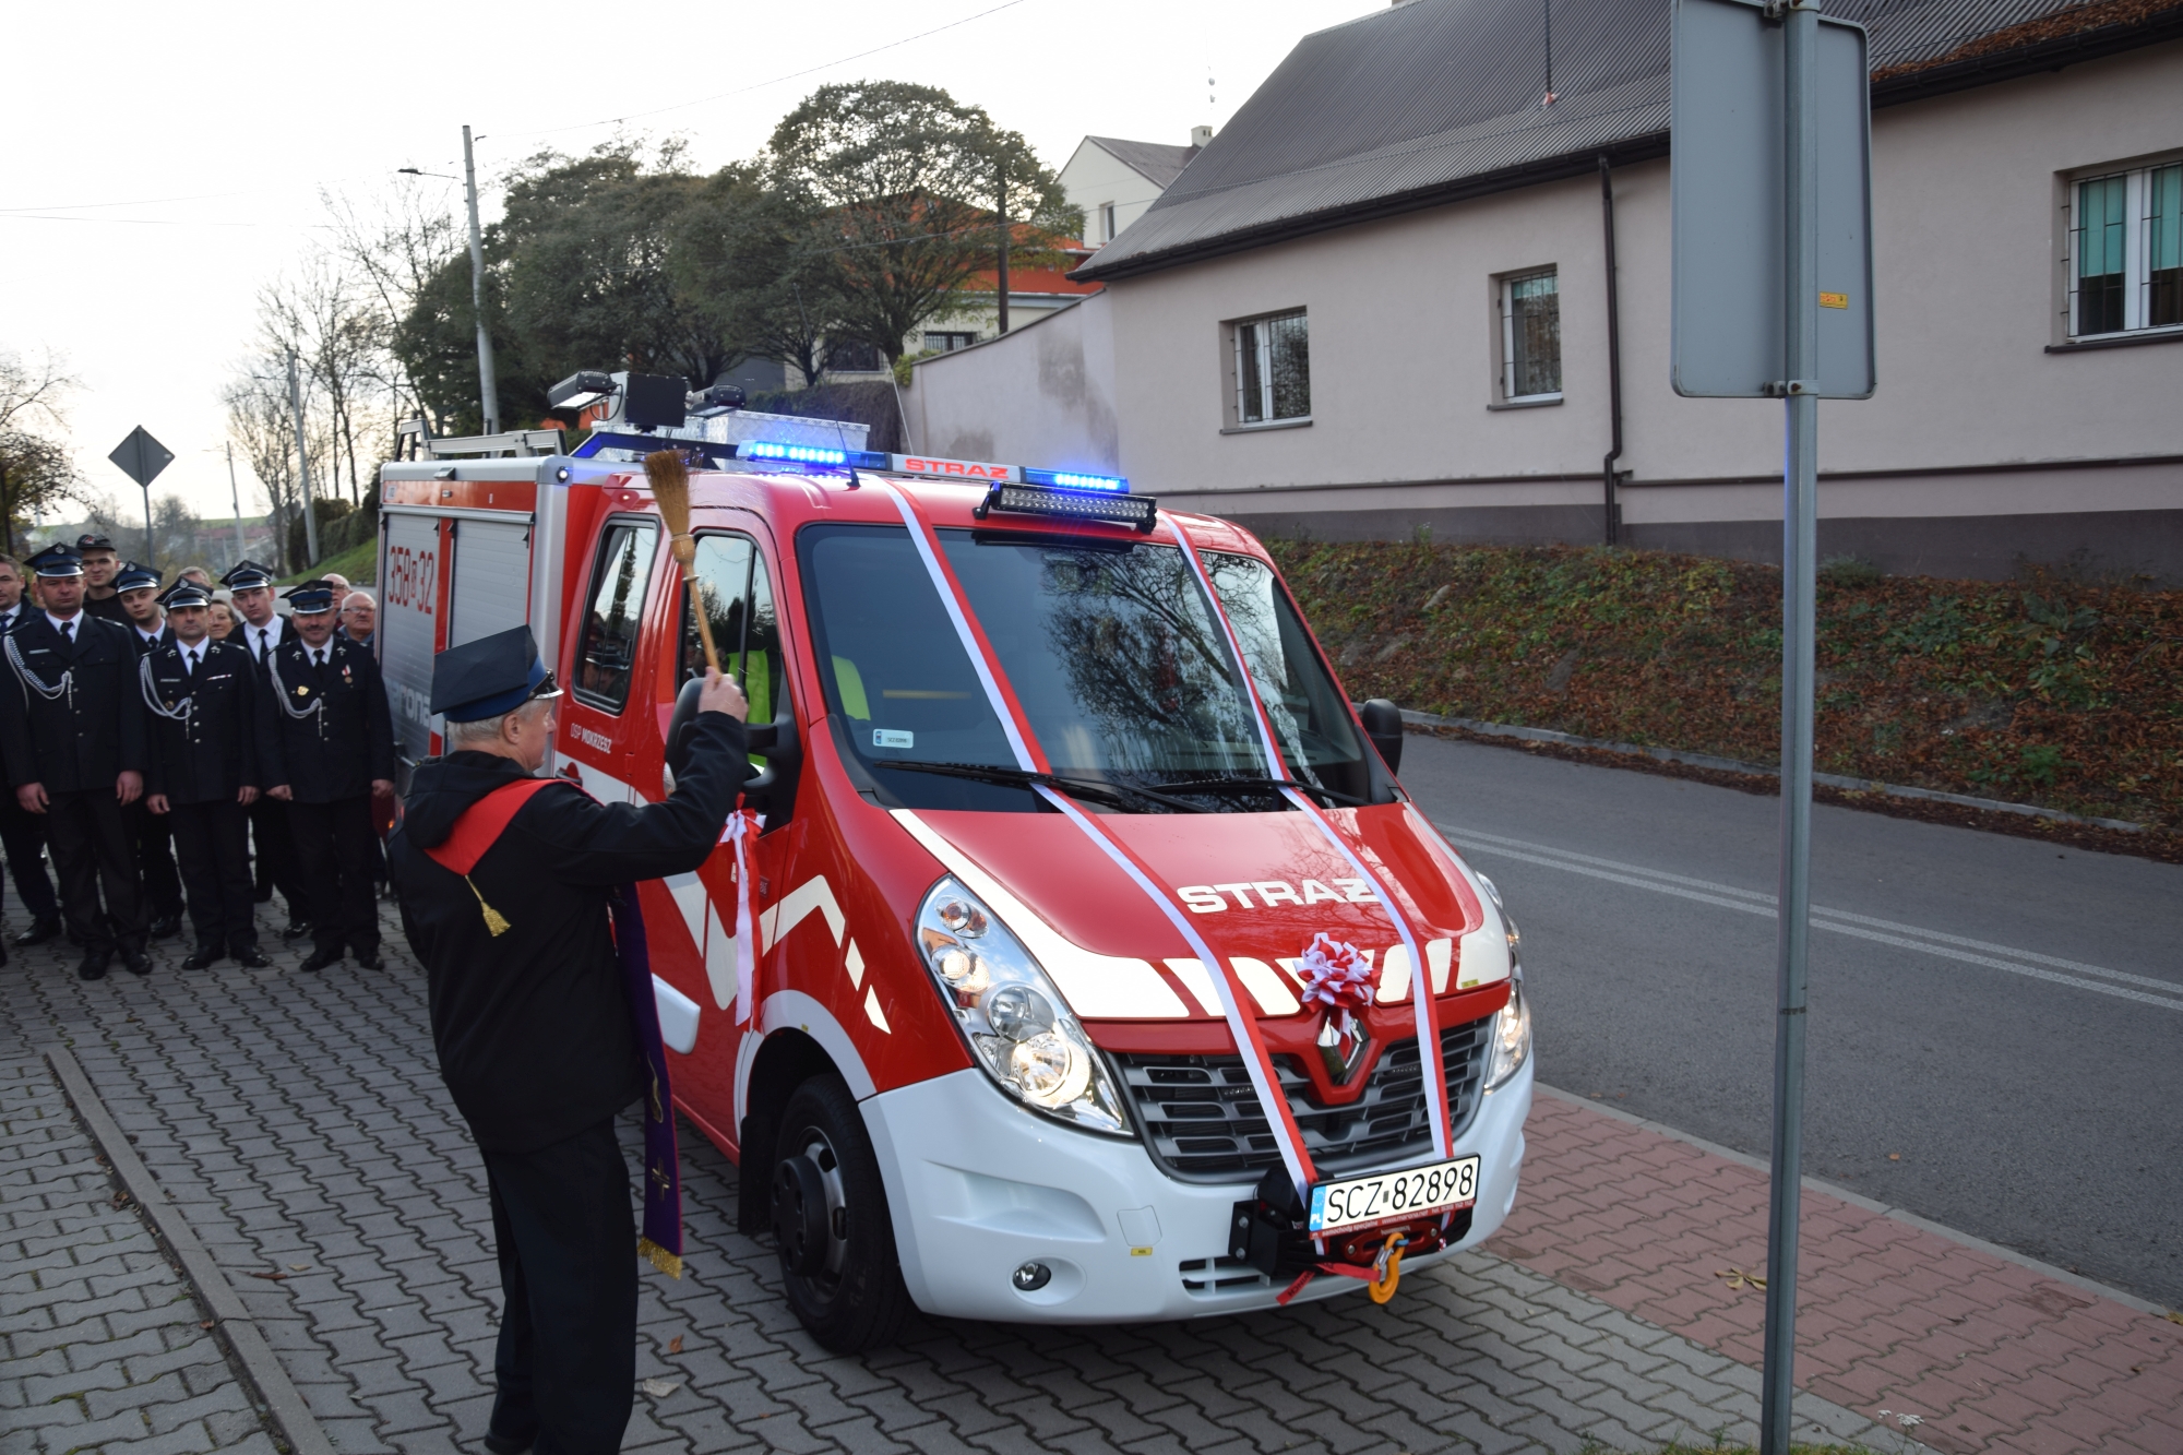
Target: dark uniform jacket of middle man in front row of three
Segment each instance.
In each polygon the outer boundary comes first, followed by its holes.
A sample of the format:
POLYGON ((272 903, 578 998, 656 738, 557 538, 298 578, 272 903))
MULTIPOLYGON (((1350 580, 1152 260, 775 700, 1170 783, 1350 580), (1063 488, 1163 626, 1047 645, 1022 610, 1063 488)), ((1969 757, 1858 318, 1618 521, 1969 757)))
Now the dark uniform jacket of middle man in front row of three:
POLYGON ((151 730, 146 793, 166 793, 175 804, 231 804, 236 789, 264 786, 258 741, 273 732, 273 697, 258 690, 249 651, 205 638, 192 679, 181 644, 168 642, 138 666, 138 688, 151 730))

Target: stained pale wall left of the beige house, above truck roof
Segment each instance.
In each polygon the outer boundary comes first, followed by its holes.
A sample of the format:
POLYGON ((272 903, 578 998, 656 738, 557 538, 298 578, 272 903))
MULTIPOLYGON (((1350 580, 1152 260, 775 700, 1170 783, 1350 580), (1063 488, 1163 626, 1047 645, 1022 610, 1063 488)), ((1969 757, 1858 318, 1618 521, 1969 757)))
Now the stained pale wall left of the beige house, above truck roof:
POLYGON ((926 454, 1116 474, 1113 380, 1111 304, 1094 293, 1002 339, 921 360, 902 404, 926 454))

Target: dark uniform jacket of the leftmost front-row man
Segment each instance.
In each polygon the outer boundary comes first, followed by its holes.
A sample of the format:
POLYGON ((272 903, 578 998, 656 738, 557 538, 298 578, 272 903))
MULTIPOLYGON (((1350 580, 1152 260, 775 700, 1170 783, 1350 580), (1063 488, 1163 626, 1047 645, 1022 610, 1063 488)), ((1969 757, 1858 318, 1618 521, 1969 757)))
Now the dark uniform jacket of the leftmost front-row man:
POLYGON ((129 627, 79 612, 70 642, 44 612, 31 612, 7 642, 13 651, 0 651, 0 754, 17 789, 39 782, 46 793, 111 793, 122 771, 144 771, 144 701, 129 627))

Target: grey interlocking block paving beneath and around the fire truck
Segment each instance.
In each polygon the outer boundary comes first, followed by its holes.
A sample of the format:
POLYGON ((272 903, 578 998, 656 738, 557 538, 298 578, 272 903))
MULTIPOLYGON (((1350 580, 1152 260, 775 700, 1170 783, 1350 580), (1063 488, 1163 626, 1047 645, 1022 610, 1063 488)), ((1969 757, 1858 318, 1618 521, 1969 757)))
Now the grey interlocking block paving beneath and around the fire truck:
MULTIPOLYGON (((482 1171, 393 915, 382 974, 159 959, 81 985, 59 955, 17 957, 0 1055, 72 1044, 343 1455, 478 1448, 500 1298, 482 1171)), ((899 1348, 840 1359, 788 1313, 771 1247, 733 1232, 733 1167, 685 1136, 683 1169, 690 1271, 644 1274, 640 1376, 666 1392, 637 1396, 631 1451, 1500 1455, 1755 1435, 1753 1368, 1493 1254, 1406 1278, 1384 1309, 919 1320, 899 1348)), ((1799 1431, 1917 1448, 1823 1398, 1799 1400, 1799 1431)))

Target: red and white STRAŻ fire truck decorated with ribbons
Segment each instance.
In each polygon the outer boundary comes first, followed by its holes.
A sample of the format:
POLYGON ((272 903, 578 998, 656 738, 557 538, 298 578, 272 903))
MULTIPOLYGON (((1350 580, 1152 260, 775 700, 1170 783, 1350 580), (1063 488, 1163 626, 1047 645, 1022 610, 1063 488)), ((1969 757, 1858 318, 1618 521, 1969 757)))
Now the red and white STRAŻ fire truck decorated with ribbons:
POLYGON ((568 688, 548 771, 640 802, 707 614, 760 771, 642 909, 675 1101, 806 1326, 1377 1298, 1491 1234, 1530 1105, 1515 926, 1257 540, 709 413, 386 465, 380 651, 419 760, 432 653, 530 623, 568 688), (692 588, 664 443, 699 459, 692 588))

